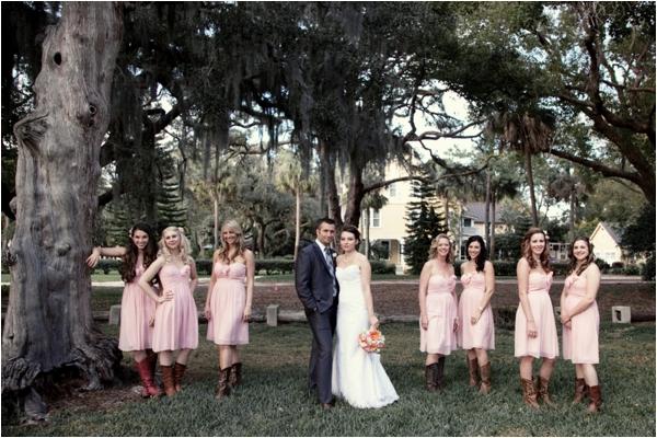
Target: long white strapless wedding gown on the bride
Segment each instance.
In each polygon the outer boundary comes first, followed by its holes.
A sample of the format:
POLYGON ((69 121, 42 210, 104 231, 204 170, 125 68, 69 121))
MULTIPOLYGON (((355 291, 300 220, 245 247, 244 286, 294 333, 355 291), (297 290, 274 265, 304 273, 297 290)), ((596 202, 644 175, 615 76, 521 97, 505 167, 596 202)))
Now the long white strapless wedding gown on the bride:
POLYGON ((399 399, 388 378, 381 356, 366 353, 358 345, 358 335, 369 328, 369 318, 360 284, 358 265, 338 267, 336 344, 333 351, 333 394, 354 407, 381 407, 399 399))

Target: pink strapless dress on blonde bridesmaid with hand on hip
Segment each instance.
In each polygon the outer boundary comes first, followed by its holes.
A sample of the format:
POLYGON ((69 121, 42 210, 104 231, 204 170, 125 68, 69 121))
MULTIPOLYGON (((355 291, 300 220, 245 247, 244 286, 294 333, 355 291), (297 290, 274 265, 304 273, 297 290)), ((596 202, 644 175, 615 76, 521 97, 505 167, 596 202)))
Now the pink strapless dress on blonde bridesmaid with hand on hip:
POLYGON ((153 328, 153 351, 198 347, 198 311, 189 289, 191 267, 166 263, 160 269, 162 290, 171 289, 174 297, 159 304, 153 328))

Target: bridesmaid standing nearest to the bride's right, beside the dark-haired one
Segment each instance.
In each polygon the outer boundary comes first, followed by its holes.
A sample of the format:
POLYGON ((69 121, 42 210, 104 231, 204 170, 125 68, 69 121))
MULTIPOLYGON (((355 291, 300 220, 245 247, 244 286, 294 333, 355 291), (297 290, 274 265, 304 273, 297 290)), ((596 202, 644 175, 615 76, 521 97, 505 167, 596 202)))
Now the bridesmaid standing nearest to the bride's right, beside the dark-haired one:
POLYGON ((419 350, 427 354, 425 387, 431 392, 442 389, 445 356, 457 349, 457 277, 451 260, 449 238, 438 234, 419 275, 419 350))

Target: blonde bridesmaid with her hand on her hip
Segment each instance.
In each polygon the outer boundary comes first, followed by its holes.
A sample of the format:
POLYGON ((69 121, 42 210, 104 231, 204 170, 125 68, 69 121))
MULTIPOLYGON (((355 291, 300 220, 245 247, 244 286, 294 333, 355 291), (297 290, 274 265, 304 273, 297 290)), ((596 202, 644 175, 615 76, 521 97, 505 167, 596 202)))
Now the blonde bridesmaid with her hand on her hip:
POLYGON ((160 253, 143 273, 139 286, 158 303, 153 328, 153 350, 159 353, 166 395, 181 391, 182 379, 193 349, 198 346, 198 312, 194 289, 198 278, 189 254, 189 242, 182 228, 168 227, 162 232, 160 253), (158 296, 150 280, 160 276, 163 290, 158 296), (173 354, 178 350, 173 364, 173 354))

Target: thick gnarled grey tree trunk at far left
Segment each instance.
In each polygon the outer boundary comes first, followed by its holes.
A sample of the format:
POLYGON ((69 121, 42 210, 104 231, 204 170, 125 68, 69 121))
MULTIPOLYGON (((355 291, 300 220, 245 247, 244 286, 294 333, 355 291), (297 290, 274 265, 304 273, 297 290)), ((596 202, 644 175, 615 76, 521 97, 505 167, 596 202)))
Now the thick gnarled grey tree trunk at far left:
POLYGON ((3 395, 35 394, 42 377, 65 368, 77 369, 89 389, 97 389, 113 379, 122 358, 116 341, 92 327, 84 263, 92 247, 120 8, 64 3, 59 24, 48 28, 44 42, 36 107, 14 126, 16 230, 2 333, 3 395))

